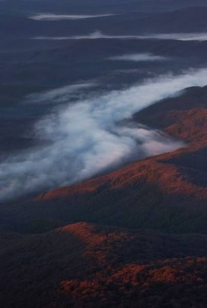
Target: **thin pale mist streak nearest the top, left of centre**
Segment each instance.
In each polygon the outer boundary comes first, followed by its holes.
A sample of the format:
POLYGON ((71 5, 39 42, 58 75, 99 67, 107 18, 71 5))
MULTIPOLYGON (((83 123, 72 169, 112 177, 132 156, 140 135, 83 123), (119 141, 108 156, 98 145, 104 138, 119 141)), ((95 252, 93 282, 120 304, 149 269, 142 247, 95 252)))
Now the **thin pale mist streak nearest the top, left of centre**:
POLYGON ((35 21, 61 21, 61 20, 80 20, 85 18, 96 18, 113 16, 113 14, 100 14, 100 15, 70 15, 70 14, 51 14, 51 13, 39 13, 28 18, 35 21))

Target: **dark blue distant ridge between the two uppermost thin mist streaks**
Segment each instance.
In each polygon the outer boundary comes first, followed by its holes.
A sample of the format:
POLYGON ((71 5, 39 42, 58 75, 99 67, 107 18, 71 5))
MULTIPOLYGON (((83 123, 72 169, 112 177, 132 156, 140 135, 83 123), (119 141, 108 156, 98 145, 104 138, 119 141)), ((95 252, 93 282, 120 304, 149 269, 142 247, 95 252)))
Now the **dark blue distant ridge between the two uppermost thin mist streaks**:
MULTIPOLYGON (((29 13, 1 15, 0 35, 18 34, 32 36, 70 36, 89 34, 100 30, 105 34, 148 34, 148 33, 196 33, 207 32, 207 7, 192 7, 163 13, 122 13, 117 16, 87 18, 83 20, 34 21, 29 13), (124 23, 125 18, 128 20, 124 23), (193 20, 193 23, 192 23, 193 20)), ((9 13, 10 14, 10 13, 9 13)))

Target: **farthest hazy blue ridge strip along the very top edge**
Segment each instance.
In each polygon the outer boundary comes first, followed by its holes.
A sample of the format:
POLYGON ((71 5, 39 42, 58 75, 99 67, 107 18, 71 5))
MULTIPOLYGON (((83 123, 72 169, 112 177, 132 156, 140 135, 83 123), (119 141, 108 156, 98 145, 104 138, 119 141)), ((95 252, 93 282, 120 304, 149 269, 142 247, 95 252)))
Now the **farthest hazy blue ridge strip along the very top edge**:
POLYGON ((36 1, 36 0, 7 0, 2 3, 3 8, 16 10, 36 10, 36 11, 44 11, 48 12, 87 12, 95 10, 97 11, 118 11, 118 12, 126 12, 126 11, 151 11, 151 12, 159 12, 159 11, 169 11, 180 8, 187 8, 191 6, 206 6, 205 0, 197 0, 196 4, 194 0, 98 0, 94 3, 93 0, 71 0, 70 2, 67 0, 61 0, 57 2, 56 0, 44 0, 44 1, 36 1))

